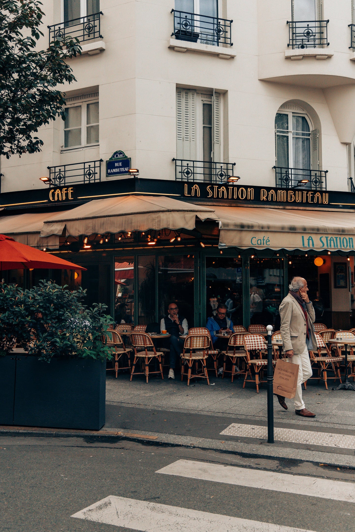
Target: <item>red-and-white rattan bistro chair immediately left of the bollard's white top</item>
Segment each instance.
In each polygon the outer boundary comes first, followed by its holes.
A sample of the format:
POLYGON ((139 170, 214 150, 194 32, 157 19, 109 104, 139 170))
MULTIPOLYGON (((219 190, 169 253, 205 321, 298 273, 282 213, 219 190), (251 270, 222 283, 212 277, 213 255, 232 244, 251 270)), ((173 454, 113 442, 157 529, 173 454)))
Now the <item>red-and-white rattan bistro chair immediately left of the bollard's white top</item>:
MULTIPOLYGON (((243 383, 255 383, 257 387, 257 393, 259 393, 259 384, 265 383, 263 380, 263 369, 267 366, 267 344, 265 338, 260 334, 248 334, 243 339, 245 352, 246 352, 246 371, 243 383), (252 378, 251 368, 253 368, 255 379, 252 378), (250 376, 250 379, 247 377, 250 376)), ((273 364, 276 364, 276 360, 273 360, 273 364)))

